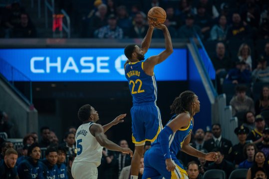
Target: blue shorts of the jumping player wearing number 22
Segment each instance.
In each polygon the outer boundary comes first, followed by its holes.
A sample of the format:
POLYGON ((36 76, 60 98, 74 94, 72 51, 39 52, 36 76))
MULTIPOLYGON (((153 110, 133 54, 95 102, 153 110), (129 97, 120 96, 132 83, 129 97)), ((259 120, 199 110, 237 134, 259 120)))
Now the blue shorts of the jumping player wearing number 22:
POLYGON ((136 146, 154 142, 163 129, 161 114, 155 103, 134 104, 131 108, 132 141, 136 146))

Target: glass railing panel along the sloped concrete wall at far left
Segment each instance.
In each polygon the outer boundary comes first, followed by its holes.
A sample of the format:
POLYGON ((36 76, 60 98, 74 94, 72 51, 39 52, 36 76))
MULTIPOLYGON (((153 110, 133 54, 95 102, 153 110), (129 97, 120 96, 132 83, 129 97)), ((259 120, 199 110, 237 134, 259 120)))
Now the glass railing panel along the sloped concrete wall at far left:
POLYGON ((0 58, 0 74, 13 86, 16 93, 29 105, 32 104, 32 81, 14 68, 8 62, 0 58))

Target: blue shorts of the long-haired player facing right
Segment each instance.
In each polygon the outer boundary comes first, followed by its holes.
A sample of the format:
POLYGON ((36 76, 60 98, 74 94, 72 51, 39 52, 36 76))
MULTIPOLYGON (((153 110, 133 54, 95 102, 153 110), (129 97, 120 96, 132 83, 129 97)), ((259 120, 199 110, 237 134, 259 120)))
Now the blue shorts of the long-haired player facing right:
POLYGON ((159 147, 151 147, 144 155, 144 173, 142 179, 188 179, 187 172, 175 155, 171 154, 176 165, 173 172, 166 169, 165 158, 159 147))

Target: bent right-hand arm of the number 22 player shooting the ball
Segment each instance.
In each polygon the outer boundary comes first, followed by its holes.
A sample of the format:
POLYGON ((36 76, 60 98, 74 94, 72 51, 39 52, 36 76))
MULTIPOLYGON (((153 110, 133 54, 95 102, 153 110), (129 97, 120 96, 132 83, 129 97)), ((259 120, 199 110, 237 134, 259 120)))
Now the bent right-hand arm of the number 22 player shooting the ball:
POLYGON ((153 75, 154 66, 163 62, 165 59, 168 58, 169 55, 171 55, 173 53, 172 40, 171 40, 171 36, 170 36, 170 33, 169 33, 167 27, 164 24, 160 24, 160 23, 154 23, 154 26, 156 28, 163 30, 164 38, 165 38, 165 50, 162 51, 158 55, 154 55, 154 56, 149 57, 144 62, 144 71, 148 75, 153 75))

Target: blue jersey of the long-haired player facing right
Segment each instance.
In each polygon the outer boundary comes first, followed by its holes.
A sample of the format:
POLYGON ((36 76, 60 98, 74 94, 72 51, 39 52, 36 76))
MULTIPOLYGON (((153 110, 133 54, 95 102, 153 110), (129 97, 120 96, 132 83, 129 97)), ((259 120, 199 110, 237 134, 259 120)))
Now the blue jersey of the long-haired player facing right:
MULTIPOLYGON (((173 120, 175 117, 176 117, 176 115, 174 115, 171 120, 173 120)), ((169 124, 169 122, 167 124, 169 124)), ((193 130, 193 119, 190 121, 189 126, 187 128, 179 129, 178 131, 176 131, 175 133, 170 135, 169 136, 169 149, 170 149, 170 152, 172 152, 174 155, 177 155, 177 153, 182 148, 184 140, 189 135, 191 135, 192 130, 193 130)), ((152 147, 155 146, 155 145, 156 145, 156 147, 160 146, 159 136, 158 136, 157 140, 152 144, 152 147)))

